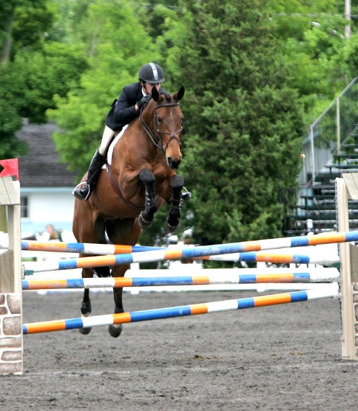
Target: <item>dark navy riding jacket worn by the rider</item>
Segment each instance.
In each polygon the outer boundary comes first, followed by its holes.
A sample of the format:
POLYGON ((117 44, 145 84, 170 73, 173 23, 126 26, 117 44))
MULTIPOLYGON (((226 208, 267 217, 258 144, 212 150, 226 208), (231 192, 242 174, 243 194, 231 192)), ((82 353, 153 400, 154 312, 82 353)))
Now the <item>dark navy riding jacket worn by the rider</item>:
MULTIPOLYGON (((162 87, 160 93, 166 93, 162 87)), ((136 103, 143 97, 142 85, 135 82, 123 88, 119 98, 112 105, 105 124, 114 131, 122 128, 139 116, 140 110, 135 110, 136 103)))

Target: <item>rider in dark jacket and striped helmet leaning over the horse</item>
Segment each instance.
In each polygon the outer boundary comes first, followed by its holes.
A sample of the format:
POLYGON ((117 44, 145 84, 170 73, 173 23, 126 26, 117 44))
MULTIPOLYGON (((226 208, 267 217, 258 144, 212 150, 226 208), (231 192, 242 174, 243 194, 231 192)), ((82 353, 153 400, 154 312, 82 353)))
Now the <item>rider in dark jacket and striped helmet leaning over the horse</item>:
POLYGON ((165 81, 162 67, 156 63, 144 64, 139 69, 139 82, 135 82, 123 88, 119 98, 114 100, 110 112, 105 121, 101 145, 94 153, 89 164, 87 182, 81 182, 72 193, 76 198, 87 201, 94 191, 101 168, 105 161, 105 153, 112 141, 114 133, 122 130, 124 125, 134 120, 151 98, 151 92, 155 87, 160 93, 166 93, 160 85, 165 81))

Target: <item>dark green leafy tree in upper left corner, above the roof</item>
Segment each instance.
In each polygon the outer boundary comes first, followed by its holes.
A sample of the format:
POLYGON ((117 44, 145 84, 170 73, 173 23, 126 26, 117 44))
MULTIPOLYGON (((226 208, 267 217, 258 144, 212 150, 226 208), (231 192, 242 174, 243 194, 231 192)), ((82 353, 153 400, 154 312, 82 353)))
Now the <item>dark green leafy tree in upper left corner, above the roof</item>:
POLYGON ((11 158, 27 151, 15 134, 22 118, 47 121, 53 94, 65 96, 77 85, 86 60, 77 46, 46 40, 51 1, 7 1, 0 12, 0 158, 11 158))

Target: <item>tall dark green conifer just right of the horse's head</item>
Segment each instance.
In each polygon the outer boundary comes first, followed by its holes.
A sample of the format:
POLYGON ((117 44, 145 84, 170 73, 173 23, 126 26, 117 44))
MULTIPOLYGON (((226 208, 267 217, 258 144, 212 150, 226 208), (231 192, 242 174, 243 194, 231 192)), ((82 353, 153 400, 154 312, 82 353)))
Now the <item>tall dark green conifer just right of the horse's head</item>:
POLYGON ((280 236, 278 190, 296 186, 302 113, 261 4, 185 1, 183 170, 202 244, 280 236))

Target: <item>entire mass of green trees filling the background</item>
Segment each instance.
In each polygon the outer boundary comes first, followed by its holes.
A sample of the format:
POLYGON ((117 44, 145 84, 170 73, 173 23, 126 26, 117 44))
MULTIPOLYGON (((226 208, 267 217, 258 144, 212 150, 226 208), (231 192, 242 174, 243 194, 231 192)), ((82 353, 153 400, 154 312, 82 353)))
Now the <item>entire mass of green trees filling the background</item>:
MULTIPOLYGON (((357 76, 357 20, 348 40, 343 14, 336 0, 2 1, 0 158, 26 152, 23 117, 50 119, 80 178, 112 101, 155 61, 168 91, 186 88, 179 172, 193 198, 181 229, 204 244, 280 236, 278 191, 296 186, 302 123, 357 76)), ((143 244, 164 242, 167 211, 143 244)))

